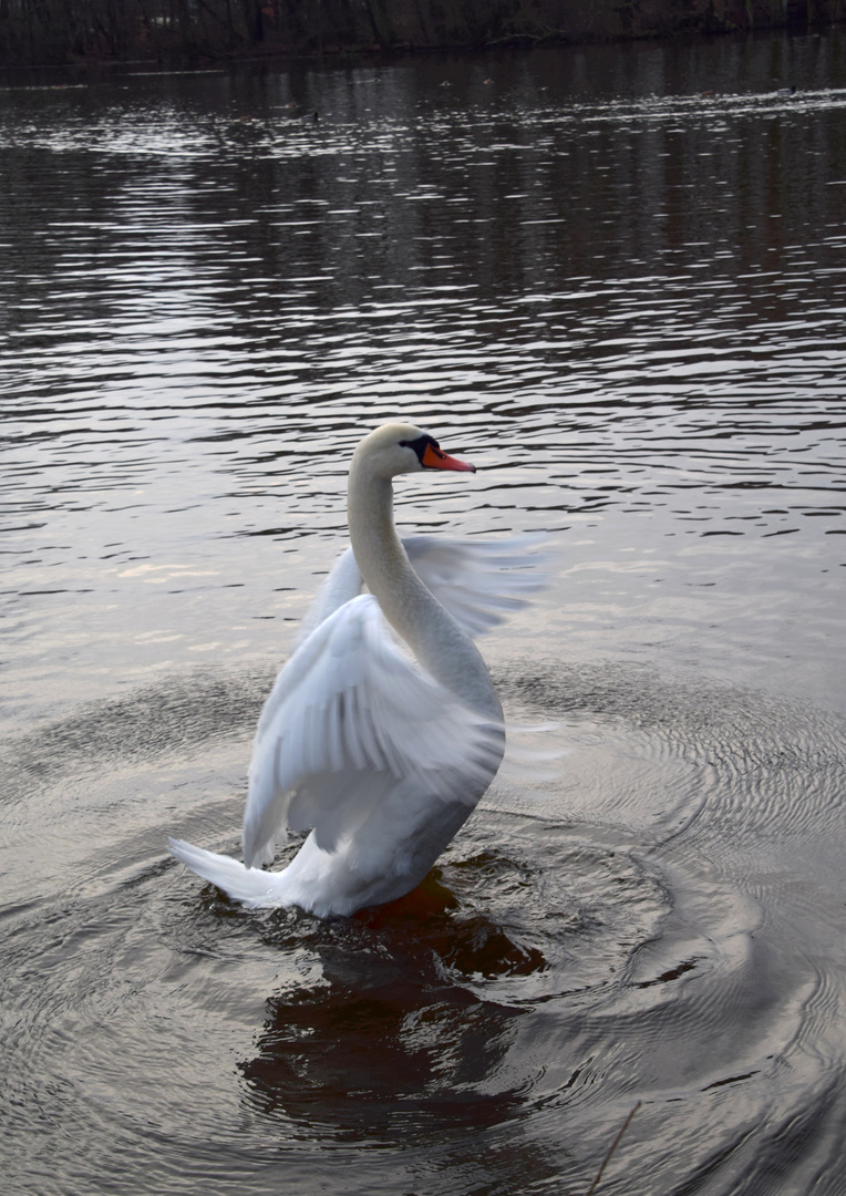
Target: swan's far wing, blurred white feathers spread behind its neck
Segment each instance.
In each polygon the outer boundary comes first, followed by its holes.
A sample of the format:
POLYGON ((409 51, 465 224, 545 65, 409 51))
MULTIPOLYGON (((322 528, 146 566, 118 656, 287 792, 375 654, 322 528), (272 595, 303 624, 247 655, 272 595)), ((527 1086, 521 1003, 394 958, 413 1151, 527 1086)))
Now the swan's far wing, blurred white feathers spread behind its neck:
POLYGON ((471 636, 501 623, 544 585, 540 536, 498 541, 409 536, 402 543, 424 585, 471 636))

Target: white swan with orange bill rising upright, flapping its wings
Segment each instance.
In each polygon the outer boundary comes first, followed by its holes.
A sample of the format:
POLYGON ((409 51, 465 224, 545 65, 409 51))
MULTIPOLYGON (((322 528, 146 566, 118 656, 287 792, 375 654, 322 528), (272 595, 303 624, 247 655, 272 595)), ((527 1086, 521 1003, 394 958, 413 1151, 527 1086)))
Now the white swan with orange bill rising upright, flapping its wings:
POLYGON ((258 721, 245 862, 170 840, 177 859, 248 908, 330 917, 403 897, 499 769, 503 709, 473 636, 536 588, 529 538, 401 541, 392 480, 432 470, 475 466, 410 423, 383 425, 359 443, 351 545, 258 721), (266 871, 288 830, 309 835, 287 867, 266 871))

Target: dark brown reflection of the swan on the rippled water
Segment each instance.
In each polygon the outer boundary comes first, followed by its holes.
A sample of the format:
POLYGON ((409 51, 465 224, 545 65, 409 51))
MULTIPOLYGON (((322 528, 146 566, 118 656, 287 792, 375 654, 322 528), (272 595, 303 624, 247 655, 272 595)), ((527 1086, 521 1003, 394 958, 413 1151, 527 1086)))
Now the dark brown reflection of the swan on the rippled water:
POLYGON ((414 932, 400 921, 376 941, 346 935, 318 951, 323 983, 269 1001, 243 1068, 266 1113, 318 1137, 406 1145, 515 1116, 521 1093, 497 1091, 495 1075, 518 1012, 445 982, 432 932, 414 932))

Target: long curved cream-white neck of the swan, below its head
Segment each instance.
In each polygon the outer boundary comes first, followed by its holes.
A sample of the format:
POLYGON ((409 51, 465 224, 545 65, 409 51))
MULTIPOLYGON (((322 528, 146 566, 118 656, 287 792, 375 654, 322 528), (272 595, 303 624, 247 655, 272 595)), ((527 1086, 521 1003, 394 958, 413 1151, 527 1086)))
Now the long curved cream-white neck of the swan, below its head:
POLYGON ((367 588, 391 627, 437 681, 469 706, 501 718, 491 675, 476 646, 414 572, 394 526, 389 480, 353 458, 349 538, 367 588))

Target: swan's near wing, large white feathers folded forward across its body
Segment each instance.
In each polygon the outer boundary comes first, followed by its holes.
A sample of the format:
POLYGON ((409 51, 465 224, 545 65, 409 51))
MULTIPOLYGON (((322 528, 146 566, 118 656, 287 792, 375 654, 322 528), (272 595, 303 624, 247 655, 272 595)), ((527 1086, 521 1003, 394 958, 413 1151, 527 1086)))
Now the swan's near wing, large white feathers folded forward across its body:
POLYGON ((361 594, 325 618, 276 679, 258 722, 244 812, 248 866, 268 864, 293 822, 330 850, 387 788, 415 777, 432 801, 475 805, 503 727, 426 676, 361 594))

